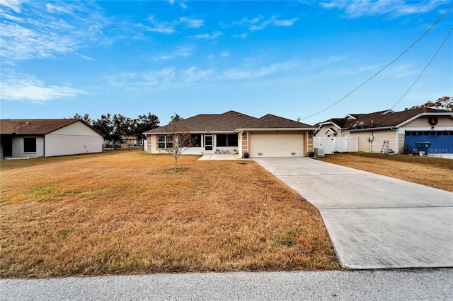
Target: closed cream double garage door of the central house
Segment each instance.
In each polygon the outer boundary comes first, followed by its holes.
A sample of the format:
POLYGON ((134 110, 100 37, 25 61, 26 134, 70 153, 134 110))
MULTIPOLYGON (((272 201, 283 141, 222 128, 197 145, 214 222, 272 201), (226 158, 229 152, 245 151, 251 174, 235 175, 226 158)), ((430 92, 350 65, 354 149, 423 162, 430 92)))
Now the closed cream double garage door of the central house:
POLYGON ((251 134, 251 157, 304 156, 304 134, 251 134))

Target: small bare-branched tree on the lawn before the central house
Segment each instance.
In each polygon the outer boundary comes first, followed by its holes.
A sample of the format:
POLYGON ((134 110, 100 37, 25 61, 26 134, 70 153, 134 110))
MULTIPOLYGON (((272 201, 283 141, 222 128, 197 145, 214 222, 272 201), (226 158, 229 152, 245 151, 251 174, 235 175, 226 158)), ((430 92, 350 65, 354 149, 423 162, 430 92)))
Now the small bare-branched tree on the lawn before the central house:
POLYGON ((188 148, 193 146, 194 139, 190 135, 190 129, 176 124, 166 126, 167 153, 175 158, 175 171, 178 171, 178 158, 188 148))

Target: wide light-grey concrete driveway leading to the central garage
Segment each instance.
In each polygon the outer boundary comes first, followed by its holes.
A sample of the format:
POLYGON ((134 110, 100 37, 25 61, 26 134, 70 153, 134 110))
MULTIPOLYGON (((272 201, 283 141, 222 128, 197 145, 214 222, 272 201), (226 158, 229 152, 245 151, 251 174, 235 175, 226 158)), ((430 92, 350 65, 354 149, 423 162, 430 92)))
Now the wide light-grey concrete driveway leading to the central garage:
POLYGON ((348 268, 453 267, 453 193, 311 158, 254 158, 318 208, 348 268))

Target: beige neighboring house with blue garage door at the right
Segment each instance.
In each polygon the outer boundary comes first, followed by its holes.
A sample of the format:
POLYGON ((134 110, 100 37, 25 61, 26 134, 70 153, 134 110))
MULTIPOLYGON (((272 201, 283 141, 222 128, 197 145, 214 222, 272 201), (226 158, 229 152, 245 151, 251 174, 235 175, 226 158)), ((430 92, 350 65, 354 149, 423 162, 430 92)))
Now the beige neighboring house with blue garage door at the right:
POLYGON ((430 154, 453 153, 453 112, 445 110, 421 107, 348 114, 316 125, 316 137, 356 136, 359 151, 386 153, 391 149, 394 153, 411 153, 415 142, 430 142, 430 154))

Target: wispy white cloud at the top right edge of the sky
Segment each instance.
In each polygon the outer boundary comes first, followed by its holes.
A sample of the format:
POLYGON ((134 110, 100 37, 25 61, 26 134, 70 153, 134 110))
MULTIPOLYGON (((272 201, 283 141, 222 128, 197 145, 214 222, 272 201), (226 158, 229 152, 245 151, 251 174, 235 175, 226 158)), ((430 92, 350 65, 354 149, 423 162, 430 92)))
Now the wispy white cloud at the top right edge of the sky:
POLYGON ((324 8, 337 8, 347 13, 350 18, 389 14, 394 17, 418 13, 427 13, 443 4, 443 1, 331 1, 321 2, 324 8))

